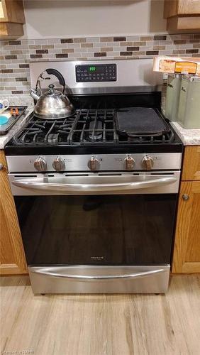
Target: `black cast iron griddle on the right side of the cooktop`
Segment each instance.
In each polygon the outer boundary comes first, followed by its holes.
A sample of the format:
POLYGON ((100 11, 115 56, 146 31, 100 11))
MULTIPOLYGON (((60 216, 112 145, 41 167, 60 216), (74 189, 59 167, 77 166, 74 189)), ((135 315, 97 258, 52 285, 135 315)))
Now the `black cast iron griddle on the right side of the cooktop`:
POLYGON ((149 107, 128 107, 116 111, 118 134, 126 136, 160 136, 170 131, 162 116, 149 107))

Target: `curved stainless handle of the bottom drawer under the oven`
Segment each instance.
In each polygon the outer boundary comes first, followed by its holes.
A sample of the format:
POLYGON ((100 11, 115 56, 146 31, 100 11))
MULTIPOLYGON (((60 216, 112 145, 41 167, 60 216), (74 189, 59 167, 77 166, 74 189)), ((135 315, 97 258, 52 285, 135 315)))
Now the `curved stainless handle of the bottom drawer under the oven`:
POLYGON ((164 273, 165 270, 163 268, 152 270, 152 271, 143 271, 139 273, 130 273, 124 275, 70 275, 70 274, 62 274, 57 273, 57 268, 52 268, 52 271, 48 268, 43 268, 40 270, 34 270, 33 273, 37 273, 39 275, 45 275, 50 278, 67 278, 70 280, 81 280, 81 281, 95 281, 95 280, 116 280, 116 279, 128 279, 128 278, 143 278, 148 275, 154 275, 157 273, 164 273))

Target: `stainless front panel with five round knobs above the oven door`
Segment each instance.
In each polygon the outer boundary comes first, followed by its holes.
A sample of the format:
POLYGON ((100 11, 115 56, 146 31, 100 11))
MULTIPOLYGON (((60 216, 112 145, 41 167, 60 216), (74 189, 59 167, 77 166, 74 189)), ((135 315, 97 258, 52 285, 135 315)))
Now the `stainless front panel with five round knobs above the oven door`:
POLYGON ((178 170, 182 153, 116 153, 6 156, 9 173, 178 170))

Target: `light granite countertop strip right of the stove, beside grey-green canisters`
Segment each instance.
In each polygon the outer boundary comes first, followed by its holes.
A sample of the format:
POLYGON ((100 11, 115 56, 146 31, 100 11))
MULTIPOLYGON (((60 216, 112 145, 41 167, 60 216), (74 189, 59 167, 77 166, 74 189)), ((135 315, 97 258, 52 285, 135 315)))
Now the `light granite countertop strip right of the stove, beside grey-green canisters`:
POLYGON ((183 129, 177 122, 171 122, 171 125, 184 146, 200 146, 200 129, 183 129))

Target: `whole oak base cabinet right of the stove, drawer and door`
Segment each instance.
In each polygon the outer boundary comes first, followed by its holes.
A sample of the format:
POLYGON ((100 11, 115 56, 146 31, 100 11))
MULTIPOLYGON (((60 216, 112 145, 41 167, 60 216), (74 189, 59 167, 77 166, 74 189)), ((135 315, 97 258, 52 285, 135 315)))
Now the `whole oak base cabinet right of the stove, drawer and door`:
POLYGON ((200 146, 185 148, 173 273, 200 273, 200 146))

